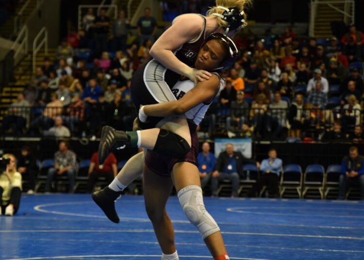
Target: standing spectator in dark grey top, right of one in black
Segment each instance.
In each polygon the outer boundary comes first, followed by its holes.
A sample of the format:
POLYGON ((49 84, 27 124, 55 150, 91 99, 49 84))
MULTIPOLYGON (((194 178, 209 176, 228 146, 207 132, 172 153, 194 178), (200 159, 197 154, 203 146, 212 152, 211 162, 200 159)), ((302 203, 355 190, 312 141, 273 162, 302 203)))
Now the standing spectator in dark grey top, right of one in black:
POLYGON ((119 17, 113 23, 113 50, 126 51, 126 40, 129 33, 130 22, 125 18, 125 12, 121 10, 119 17), (117 49, 116 49, 117 46, 117 49))

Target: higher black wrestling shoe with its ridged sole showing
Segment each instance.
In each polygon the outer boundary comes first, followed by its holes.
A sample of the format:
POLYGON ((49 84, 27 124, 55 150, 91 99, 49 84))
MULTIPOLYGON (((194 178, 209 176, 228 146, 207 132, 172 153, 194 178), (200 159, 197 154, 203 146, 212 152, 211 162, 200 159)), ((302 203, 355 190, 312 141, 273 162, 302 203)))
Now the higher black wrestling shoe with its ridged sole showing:
POLYGON ((104 126, 98 150, 99 165, 105 162, 114 148, 130 146, 130 138, 124 131, 117 131, 112 127, 104 126))

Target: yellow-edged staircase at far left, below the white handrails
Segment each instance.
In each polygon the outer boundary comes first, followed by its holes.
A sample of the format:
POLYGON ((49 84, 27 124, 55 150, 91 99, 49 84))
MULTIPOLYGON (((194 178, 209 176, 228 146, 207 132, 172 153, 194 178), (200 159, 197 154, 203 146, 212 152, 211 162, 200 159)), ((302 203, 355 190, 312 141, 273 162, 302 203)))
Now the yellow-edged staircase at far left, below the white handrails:
MULTIPOLYGON (((44 57, 47 56, 50 59, 50 63, 53 64, 56 58, 56 49, 48 49, 48 54, 44 52, 38 53, 35 64, 37 66, 43 65, 44 57)), ((33 56, 32 52, 29 52, 14 69, 14 81, 9 83, 9 86, 2 89, 0 96, 0 121, 5 114, 8 113, 9 106, 17 101, 17 95, 24 90, 24 87, 29 83, 33 77, 33 56)))

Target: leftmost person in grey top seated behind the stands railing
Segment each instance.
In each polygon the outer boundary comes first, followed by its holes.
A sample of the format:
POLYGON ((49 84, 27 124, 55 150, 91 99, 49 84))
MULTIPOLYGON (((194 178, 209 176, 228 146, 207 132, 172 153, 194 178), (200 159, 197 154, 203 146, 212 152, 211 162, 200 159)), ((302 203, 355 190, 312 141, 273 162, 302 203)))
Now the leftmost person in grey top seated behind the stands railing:
POLYGON ((1 132, 5 133, 12 124, 13 131, 17 135, 21 135, 23 133, 23 129, 27 124, 27 119, 29 117, 30 112, 30 104, 24 98, 24 93, 19 93, 17 95, 17 101, 12 103, 8 109, 9 113, 4 115, 1 123, 1 132))

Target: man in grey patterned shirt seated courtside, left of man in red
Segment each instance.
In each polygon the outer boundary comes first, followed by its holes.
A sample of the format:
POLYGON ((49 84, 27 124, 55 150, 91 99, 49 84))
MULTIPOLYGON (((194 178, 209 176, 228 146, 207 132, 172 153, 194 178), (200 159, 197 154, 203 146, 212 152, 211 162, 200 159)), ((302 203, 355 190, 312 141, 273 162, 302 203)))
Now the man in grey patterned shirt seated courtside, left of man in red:
POLYGON ((57 176, 67 175, 69 179, 68 192, 73 193, 75 186, 76 175, 76 154, 68 149, 68 143, 61 141, 59 150, 54 154, 54 168, 48 170, 46 192, 49 193, 52 188, 52 181, 57 179, 57 176))

